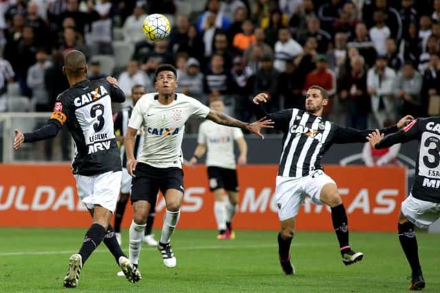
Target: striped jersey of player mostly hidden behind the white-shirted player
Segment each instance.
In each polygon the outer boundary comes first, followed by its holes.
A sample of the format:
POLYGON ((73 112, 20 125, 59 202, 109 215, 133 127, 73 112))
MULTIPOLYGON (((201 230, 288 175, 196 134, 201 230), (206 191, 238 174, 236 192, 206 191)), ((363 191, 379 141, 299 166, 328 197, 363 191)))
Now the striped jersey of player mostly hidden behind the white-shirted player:
MULTIPOLYGON (((115 133, 119 132, 120 135, 125 136, 126 128, 129 127, 129 120, 132 111, 133 111, 133 107, 129 107, 115 114, 115 118, 114 118, 115 133)), ((139 155, 139 153, 142 151, 142 147, 139 146, 142 146, 143 143, 144 143, 144 131, 140 129, 137 131, 137 135, 135 137, 135 146, 133 150, 135 158, 137 158, 137 155, 139 155)), ((120 146, 120 156, 122 161, 122 167, 126 168, 126 153, 125 153, 124 144, 121 144, 120 146)))

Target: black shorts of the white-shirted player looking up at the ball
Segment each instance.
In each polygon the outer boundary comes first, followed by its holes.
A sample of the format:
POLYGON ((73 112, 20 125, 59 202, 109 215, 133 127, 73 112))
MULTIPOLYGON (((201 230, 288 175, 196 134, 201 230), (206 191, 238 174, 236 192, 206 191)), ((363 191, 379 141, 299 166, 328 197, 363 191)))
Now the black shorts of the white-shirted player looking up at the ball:
POLYGON ((184 192, 184 172, 177 167, 155 168, 137 163, 131 181, 131 202, 146 200, 155 206, 159 190, 164 195, 168 189, 177 189, 184 192))

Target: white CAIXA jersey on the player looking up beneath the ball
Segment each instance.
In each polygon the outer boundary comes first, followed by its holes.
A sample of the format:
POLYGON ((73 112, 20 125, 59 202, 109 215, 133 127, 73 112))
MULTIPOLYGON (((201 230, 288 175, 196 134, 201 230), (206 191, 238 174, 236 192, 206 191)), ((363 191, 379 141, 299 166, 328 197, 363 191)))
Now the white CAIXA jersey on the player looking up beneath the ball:
POLYGON ((181 168, 186 120, 191 116, 206 118, 210 109, 184 94, 175 94, 175 100, 169 105, 160 104, 157 98, 157 93, 142 96, 131 113, 129 127, 144 127, 145 133, 137 162, 157 168, 181 168))

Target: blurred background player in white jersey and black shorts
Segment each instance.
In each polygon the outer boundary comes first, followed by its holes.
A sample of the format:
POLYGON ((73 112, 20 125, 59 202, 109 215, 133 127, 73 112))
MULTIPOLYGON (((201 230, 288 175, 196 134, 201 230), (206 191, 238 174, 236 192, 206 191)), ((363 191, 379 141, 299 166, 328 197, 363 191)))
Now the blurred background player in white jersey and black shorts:
MULTIPOLYGON (((224 111, 225 103, 221 98, 210 100, 210 109, 224 111)), ((232 218, 235 215, 236 204, 239 200, 239 184, 236 177, 234 141, 239 146, 239 165, 245 165, 248 155, 248 144, 243 137, 243 131, 236 127, 227 127, 206 120, 200 124, 197 148, 190 160, 190 165, 206 152, 208 166, 209 188, 214 193, 214 216, 217 221, 219 235, 217 239, 234 239, 232 218), (228 195, 228 200, 225 200, 228 195)))

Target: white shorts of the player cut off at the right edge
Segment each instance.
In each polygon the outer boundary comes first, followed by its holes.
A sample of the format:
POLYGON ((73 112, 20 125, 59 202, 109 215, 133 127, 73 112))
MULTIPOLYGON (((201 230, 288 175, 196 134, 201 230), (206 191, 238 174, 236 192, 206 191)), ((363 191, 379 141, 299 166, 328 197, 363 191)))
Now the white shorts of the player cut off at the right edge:
POLYGON ((410 193, 401 203, 401 213, 415 226, 428 228, 440 218, 440 204, 417 199, 410 193))

